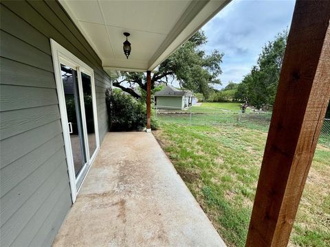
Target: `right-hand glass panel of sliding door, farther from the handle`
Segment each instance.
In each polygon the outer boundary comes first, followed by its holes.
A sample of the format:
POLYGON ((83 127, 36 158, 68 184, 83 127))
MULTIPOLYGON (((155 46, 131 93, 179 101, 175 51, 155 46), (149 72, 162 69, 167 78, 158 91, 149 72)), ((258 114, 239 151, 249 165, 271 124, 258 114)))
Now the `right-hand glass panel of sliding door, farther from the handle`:
POLYGON ((93 96, 91 94, 91 77, 85 73, 81 73, 81 80, 83 82, 84 106, 85 117, 87 126, 87 139, 89 148, 89 158, 96 152, 96 134, 94 123, 94 109, 93 109, 93 96))

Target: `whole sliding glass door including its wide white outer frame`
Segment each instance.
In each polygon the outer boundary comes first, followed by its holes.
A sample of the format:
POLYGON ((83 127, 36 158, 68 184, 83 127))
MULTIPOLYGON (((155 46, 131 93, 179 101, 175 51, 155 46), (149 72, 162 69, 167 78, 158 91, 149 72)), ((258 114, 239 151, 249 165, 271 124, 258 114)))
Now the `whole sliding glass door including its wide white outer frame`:
POLYGON ((50 41, 74 202, 100 149, 94 71, 56 41, 50 41))

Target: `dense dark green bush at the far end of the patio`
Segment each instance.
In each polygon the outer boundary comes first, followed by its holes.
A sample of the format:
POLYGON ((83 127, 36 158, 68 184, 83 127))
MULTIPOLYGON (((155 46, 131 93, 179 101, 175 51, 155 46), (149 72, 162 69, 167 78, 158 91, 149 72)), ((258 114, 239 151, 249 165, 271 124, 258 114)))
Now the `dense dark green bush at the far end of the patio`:
MULTIPOLYGON (((111 131, 142 130, 146 127, 146 104, 141 100, 125 95, 121 90, 107 89, 107 111, 111 131)), ((157 128, 157 122, 151 117, 151 128, 157 128)))

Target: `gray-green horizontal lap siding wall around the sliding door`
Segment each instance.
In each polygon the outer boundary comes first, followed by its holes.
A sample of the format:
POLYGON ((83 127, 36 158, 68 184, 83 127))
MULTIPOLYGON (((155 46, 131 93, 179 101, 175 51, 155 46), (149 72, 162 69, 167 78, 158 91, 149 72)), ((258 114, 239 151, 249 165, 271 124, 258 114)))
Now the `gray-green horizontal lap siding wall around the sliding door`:
POLYGON ((72 205, 50 38, 94 69, 100 142, 107 73, 57 1, 1 1, 1 246, 50 246, 72 205))

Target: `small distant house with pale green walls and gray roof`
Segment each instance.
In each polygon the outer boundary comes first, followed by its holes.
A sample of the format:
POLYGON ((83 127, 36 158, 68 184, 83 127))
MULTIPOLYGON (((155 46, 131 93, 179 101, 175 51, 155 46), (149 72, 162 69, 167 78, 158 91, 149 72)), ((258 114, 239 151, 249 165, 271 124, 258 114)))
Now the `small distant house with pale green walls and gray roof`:
POLYGON ((158 109, 180 109, 192 106, 192 92, 176 89, 174 86, 165 86, 154 95, 155 106, 158 109))

